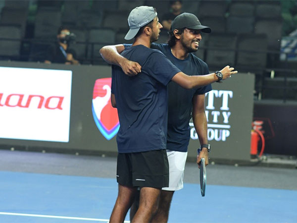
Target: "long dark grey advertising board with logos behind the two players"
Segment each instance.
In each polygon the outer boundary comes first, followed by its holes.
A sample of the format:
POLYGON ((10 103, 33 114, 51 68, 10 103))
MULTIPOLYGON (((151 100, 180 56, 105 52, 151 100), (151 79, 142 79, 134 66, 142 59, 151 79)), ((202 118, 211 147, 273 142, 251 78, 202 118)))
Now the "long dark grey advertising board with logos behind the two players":
MULTIPOLYGON (((7 67, 4 64, 0 62, 0 66, 7 67)), ((0 131, 0 145, 42 147, 57 152, 117 153, 119 120, 110 102, 110 66, 28 62, 10 62, 9 66, 22 68, 23 77, 16 74, 0 86, 0 105, 3 105, 0 106, 0 121, 5 123, 0 131), (34 75, 35 71, 25 72, 27 68, 37 70, 39 75, 34 75), (16 80, 20 80, 20 84, 14 88, 16 80), (3 87, 7 83, 11 87, 3 87), (12 129, 16 127, 20 129, 14 132, 12 129)), ((2 83, 4 77, 0 78, 2 83)), ((222 84, 214 83, 213 90, 206 94, 211 158, 250 159, 253 84, 254 75, 239 73, 222 84)), ((190 128, 188 157, 195 158, 200 145, 193 122, 190 128)))

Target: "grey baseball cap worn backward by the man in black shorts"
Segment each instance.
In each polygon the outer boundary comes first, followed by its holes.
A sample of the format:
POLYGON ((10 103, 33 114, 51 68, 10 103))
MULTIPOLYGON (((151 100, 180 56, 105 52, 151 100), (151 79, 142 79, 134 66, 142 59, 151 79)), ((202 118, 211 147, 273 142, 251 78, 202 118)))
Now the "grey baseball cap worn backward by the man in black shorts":
POLYGON ((133 39, 141 27, 147 25, 157 16, 157 12, 150 6, 139 6, 134 8, 128 17, 130 30, 125 36, 125 40, 133 39))

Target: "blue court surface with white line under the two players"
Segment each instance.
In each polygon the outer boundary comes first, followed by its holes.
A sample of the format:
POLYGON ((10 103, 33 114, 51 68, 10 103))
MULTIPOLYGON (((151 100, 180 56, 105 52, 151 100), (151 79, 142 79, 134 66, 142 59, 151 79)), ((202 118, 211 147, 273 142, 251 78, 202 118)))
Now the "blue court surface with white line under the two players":
MULTIPOLYGON (((0 171, 1 223, 108 222, 115 179, 0 171)), ((171 223, 295 223, 297 191, 185 183, 171 223)), ((127 215, 128 216, 128 215, 127 215)), ((129 220, 128 218, 126 219, 129 220)))

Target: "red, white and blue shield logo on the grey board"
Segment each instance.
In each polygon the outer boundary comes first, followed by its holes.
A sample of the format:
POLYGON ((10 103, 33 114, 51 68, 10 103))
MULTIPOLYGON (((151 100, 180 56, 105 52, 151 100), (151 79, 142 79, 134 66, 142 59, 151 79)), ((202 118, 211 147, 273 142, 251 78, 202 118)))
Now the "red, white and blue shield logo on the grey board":
POLYGON ((107 139, 112 139, 120 128, 117 109, 111 106, 111 77, 97 79, 93 90, 92 112, 95 123, 107 139))

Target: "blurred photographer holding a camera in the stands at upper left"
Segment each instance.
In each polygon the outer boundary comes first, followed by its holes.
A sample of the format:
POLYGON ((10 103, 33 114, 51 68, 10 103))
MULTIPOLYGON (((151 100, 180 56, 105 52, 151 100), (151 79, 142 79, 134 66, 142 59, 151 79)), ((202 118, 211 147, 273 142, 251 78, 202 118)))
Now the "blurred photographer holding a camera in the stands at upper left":
POLYGON ((75 35, 67 27, 59 27, 57 42, 49 46, 45 63, 79 64, 79 61, 75 59, 75 51, 69 49, 69 44, 73 40, 75 40, 75 35))

